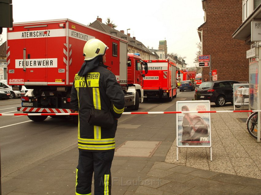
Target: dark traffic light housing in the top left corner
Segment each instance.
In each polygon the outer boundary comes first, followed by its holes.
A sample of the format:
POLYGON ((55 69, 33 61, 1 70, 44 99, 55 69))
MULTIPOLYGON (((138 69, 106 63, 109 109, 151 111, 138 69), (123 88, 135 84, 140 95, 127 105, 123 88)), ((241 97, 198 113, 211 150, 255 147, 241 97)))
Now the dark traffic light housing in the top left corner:
POLYGON ((13 27, 12 0, 0 0, 0 35, 3 28, 13 27))

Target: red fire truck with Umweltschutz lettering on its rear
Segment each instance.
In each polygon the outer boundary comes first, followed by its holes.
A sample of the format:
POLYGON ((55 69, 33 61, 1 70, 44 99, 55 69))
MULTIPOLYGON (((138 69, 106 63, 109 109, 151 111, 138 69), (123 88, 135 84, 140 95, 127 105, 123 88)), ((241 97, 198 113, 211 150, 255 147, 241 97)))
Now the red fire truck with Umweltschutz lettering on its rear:
POLYGON ((148 63, 148 73, 143 79, 144 100, 150 98, 166 98, 172 101, 177 96, 175 62, 166 60, 145 60, 148 63))

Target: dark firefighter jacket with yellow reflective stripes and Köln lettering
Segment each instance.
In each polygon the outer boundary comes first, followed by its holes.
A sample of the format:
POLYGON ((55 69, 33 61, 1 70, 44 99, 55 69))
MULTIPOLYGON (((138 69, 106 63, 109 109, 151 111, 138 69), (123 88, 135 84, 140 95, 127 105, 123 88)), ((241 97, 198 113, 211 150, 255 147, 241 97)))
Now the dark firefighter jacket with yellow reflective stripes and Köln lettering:
POLYGON ((85 75, 75 75, 71 105, 79 110, 78 122, 78 148, 82 151, 108 151, 115 149, 115 132, 117 120, 124 111, 124 93, 116 80, 115 75, 102 63, 85 75), (89 88, 86 88, 86 87, 89 88), (92 99, 91 99, 92 98, 92 99), (87 123, 87 115, 94 106, 96 109, 111 110, 115 117, 114 126, 111 129, 100 126, 90 126, 87 123))

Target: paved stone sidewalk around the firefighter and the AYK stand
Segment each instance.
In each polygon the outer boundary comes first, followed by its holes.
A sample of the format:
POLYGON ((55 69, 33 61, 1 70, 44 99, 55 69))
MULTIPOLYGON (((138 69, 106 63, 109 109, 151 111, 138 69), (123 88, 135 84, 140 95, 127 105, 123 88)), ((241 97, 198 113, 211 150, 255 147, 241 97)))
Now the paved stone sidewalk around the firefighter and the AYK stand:
MULTIPOLYGON (((232 106, 211 109, 232 110, 232 106)), ((166 103, 150 111, 162 110, 174 111, 175 103, 166 103)), ((247 134, 244 122, 238 119, 246 115, 213 113, 211 118, 212 162, 209 148, 182 148, 177 162, 175 114, 140 114, 120 122, 111 167, 112 194, 261 194, 260 143, 247 134), (126 144, 137 149, 131 145, 134 142, 153 142, 155 148, 144 144, 146 148, 136 156, 124 152, 117 156, 119 148, 126 144)), ((2 178, 2 195, 75 194, 77 163, 75 145, 2 178)))

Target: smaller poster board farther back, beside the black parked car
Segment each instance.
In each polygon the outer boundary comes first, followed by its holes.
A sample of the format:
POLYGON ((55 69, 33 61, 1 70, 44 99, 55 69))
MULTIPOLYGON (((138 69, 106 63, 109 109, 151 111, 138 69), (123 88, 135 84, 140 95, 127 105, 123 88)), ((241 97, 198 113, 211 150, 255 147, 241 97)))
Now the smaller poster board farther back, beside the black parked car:
MULTIPOLYGON (((233 101, 236 107, 249 104, 249 84, 235 83, 233 84, 233 101), (244 101, 244 102, 243 102, 244 101)), ((235 109, 234 109, 235 110, 235 109)))

